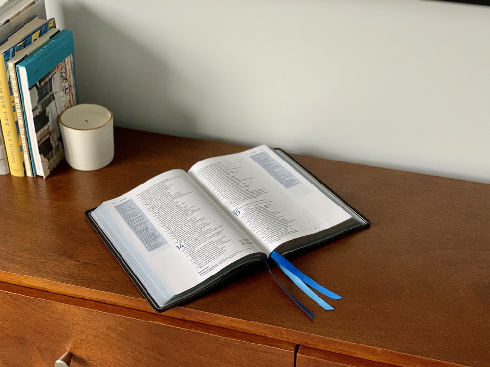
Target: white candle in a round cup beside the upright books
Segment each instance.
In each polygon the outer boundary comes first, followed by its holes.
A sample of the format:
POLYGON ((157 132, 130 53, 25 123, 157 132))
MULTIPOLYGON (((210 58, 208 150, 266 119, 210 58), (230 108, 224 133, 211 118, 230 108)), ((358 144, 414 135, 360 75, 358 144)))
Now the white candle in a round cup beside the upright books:
POLYGON ((65 157, 71 167, 93 171, 114 158, 113 115, 95 104, 79 104, 59 116, 65 157))

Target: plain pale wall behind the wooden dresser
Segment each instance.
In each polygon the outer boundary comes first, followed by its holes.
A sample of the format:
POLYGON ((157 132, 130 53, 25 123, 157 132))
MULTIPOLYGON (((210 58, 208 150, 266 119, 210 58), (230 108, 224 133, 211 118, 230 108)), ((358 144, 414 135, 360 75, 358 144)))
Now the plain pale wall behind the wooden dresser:
POLYGON ((116 125, 490 183, 490 7, 46 1, 116 125))

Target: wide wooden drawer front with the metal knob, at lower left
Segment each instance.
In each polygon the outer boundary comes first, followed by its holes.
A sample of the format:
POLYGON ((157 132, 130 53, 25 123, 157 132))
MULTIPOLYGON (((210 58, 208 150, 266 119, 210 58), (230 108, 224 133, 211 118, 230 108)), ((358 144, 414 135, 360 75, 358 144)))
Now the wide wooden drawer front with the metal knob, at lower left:
POLYGON ((0 366, 294 366, 294 345, 245 339, 0 291, 0 366))

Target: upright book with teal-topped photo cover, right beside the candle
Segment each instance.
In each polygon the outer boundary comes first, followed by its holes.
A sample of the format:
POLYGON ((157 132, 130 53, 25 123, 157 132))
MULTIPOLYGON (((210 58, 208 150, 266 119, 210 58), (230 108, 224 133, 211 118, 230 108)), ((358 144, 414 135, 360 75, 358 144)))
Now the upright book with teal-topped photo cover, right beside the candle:
POLYGON ((73 34, 63 29, 17 64, 35 171, 46 178, 65 158, 59 114, 77 103, 73 34))

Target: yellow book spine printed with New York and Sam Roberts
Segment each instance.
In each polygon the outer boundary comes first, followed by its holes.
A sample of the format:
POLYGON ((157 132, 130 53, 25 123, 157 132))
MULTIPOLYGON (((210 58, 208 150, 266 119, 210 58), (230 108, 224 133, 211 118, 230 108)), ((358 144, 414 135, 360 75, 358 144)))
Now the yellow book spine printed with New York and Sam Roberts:
POLYGON ((21 143, 15 125, 13 97, 10 94, 9 79, 7 75, 4 55, 0 54, 0 121, 3 140, 7 151, 7 160, 10 173, 13 176, 25 176, 21 143), (3 66, 2 66, 3 65, 3 66))

